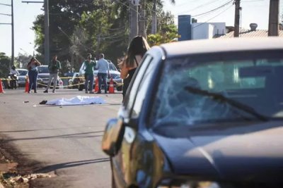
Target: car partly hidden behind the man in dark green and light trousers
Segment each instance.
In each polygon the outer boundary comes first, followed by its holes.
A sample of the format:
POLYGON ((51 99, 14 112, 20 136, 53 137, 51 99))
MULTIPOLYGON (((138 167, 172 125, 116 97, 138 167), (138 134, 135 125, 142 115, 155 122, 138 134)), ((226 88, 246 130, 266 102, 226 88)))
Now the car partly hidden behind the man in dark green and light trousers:
MULTIPOLYGON (((49 76, 50 76, 48 65, 40 65, 37 67, 37 70, 38 70, 38 75, 37 75, 38 87, 47 87, 47 84, 49 82, 49 76)), ((53 82, 51 83, 51 85, 53 85, 53 82)), ((56 88, 58 89, 62 87, 63 87, 63 81, 58 76, 56 88)))

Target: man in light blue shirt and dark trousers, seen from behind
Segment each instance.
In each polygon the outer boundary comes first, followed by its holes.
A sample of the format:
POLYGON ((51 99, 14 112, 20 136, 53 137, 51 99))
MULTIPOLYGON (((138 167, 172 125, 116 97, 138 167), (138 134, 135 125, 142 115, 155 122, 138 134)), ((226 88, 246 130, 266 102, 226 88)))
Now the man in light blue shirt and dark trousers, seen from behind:
POLYGON ((109 63, 105 60, 104 54, 99 55, 98 63, 96 64, 96 68, 98 69, 98 94, 101 94, 101 85, 103 83, 104 86, 104 92, 107 94, 107 75, 110 77, 110 71, 109 71, 109 63))

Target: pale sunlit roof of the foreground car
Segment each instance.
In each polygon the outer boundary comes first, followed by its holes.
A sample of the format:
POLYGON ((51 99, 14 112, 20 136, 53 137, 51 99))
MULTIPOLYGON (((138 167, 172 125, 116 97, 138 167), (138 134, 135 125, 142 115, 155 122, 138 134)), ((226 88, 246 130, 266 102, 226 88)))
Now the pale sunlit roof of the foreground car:
POLYGON ((190 54, 283 49, 282 37, 200 39, 162 44, 167 58, 190 54))

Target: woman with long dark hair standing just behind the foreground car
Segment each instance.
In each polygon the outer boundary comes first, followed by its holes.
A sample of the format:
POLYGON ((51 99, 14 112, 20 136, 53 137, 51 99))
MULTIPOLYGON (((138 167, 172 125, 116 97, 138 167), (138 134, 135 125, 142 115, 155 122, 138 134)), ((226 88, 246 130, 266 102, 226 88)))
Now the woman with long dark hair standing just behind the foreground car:
POLYGON ((129 87, 129 82, 131 82, 132 76, 134 75, 134 71, 139 66, 147 50, 149 50, 149 44, 146 42, 146 39, 140 35, 134 37, 129 43, 126 57, 119 65, 121 68, 121 78, 123 79, 123 99, 129 87))

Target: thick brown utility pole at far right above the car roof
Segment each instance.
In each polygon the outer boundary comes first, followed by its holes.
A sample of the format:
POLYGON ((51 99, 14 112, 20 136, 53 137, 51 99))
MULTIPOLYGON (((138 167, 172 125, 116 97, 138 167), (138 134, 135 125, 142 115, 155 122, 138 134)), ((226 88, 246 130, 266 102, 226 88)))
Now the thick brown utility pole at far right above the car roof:
POLYGON ((270 0, 268 36, 278 36, 279 0, 270 0))

